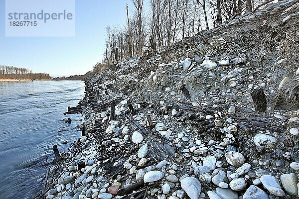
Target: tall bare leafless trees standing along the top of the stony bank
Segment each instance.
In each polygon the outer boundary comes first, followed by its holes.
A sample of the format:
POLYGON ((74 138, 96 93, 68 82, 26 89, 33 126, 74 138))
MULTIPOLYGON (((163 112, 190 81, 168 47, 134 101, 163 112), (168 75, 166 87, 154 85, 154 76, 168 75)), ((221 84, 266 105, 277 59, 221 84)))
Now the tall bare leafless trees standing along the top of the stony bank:
POLYGON ((106 27, 104 63, 126 60, 165 49, 273 0, 132 0, 126 25, 106 27), (147 3, 148 6, 145 6, 147 3), (144 10, 147 7, 147 10, 144 10))

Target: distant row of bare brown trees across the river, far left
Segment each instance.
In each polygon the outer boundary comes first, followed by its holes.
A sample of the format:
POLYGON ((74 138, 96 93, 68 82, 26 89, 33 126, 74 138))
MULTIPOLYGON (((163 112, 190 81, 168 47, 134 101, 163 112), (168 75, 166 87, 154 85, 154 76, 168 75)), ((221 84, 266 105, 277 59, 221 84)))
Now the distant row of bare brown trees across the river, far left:
POLYGON ((0 65, 0 79, 49 80, 51 77, 45 73, 32 73, 32 70, 26 68, 0 65))

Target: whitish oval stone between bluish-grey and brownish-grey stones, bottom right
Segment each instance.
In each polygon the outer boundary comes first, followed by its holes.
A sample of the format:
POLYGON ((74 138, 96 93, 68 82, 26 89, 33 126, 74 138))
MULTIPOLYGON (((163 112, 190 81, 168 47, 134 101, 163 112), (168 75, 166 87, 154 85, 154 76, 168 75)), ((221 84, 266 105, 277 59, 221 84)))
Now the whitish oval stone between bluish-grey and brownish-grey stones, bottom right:
POLYGON ((273 195, 284 197, 286 194, 282 190, 279 180, 271 175, 261 176, 263 186, 273 195))

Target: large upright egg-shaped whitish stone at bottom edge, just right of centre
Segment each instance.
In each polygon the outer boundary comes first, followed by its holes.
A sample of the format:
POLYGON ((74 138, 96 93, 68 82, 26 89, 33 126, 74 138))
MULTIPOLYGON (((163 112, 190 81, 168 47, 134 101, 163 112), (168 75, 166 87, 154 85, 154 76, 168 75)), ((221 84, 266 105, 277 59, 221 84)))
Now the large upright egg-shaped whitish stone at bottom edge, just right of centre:
POLYGON ((194 177, 186 177, 181 180, 181 188, 190 199, 198 199, 201 193, 201 184, 194 177))

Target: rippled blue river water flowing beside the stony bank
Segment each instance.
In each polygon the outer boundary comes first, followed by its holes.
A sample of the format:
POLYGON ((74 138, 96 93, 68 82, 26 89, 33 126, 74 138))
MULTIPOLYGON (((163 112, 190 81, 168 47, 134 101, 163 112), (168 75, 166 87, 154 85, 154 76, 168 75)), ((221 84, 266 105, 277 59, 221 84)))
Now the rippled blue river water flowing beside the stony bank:
POLYGON ((41 188, 53 145, 67 151, 81 135, 81 115, 63 112, 83 97, 83 81, 0 83, 0 199, 31 199, 41 188))

